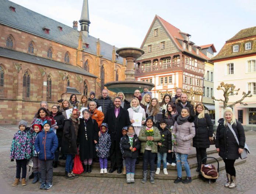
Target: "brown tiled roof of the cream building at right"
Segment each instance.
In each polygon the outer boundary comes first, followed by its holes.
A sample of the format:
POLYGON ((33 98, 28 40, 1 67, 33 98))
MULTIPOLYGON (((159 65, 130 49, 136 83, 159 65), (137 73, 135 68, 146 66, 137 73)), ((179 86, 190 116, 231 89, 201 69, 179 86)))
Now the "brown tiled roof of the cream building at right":
POLYGON ((220 52, 211 61, 224 60, 225 58, 240 57, 256 54, 256 26, 240 30, 235 36, 227 40, 220 52), (245 50, 245 42, 252 41, 252 49, 245 50), (239 44, 239 51, 233 53, 233 46, 239 44))

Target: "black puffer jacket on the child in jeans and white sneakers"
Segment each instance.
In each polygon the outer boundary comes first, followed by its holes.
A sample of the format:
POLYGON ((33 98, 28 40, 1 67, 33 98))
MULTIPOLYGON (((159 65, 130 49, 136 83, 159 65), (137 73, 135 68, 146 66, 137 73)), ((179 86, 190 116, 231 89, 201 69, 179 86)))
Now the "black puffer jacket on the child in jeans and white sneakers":
POLYGON ((158 141, 160 143, 162 143, 162 145, 158 145, 158 152, 160 153, 168 153, 168 150, 171 150, 172 148, 172 141, 171 141, 171 132, 167 129, 161 129, 159 128, 159 132, 161 135, 161 139, 164 139, 163 142, 158 141))

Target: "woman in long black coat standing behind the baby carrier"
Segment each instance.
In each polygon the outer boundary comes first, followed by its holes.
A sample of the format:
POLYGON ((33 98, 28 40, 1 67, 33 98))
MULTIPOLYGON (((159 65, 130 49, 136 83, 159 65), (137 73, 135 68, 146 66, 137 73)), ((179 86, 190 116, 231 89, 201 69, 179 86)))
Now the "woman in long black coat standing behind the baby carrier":
MULTIPOLYGON (((205 114, 203 104, 197 104, 195 115, 195 130, 196 135, 193 138, 193 147, 196 148, 196 159, 198 162, 197 172, 200 170, 200 163, 203 158, 207 157, 206 148, 210 147, 210 141, 213 140, 213 124, 209 114, 205 114)), ((202 161, 203 164, 206 160, 202 161)))

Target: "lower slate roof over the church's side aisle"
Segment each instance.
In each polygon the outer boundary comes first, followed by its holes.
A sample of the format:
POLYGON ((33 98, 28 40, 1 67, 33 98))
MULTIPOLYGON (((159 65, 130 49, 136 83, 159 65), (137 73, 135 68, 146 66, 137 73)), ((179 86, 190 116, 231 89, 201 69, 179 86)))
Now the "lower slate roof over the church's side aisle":
POLYGON ((85 71, 81 67, 65 64, 65 63, 58 62, 58 61, 53 61, 53 60, 50 60, 47 58, 42 58, 42 57, 38 57, 35 55, 27 54, 27 53, 21 53, 21 52, 15 51, 15 50, 10 50, 8 48, 0 47, 0 57, 6 57, 6 58, 18 60, 18 61, 29 62, 29 63, 33 63, 33 64, 42 65, 45 67, 56 68, 56 69, 60 69, 63 71, 79 73, 81 75, 86 75, 86 76, 90 76, 93 78, 97 78, 97 76, 85 71))

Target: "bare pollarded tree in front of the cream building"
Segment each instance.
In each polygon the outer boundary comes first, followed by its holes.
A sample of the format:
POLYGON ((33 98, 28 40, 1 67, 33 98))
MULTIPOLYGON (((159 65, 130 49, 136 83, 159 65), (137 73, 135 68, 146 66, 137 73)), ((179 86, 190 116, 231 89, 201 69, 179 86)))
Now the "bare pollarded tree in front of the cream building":
POLYGON ((211 97, 211 99, 215 100, 215 101, 221 101, 223 102, 223 108, 227 108, 227 107, 234 107, 235 104, 243 104, 243 105, 248 105, 246 103, 243 103, 243 99, 245 99, 246 97, 252 97, 251 91, 249 90, 248 93, 245 93, 243 91, 242 93, 242 98, 240 100, 235 101, 232 104, 228 104, 228 100, 229 100, 229 96, 233 96, 233 95, 238 95, 238 92, 240 90, 240 88, 238 88, 237 90, 235 90, 235 86, 232 83, 225 83, 221 82, 220 86, 217 87, 217 90, 223 90, 223 96, 224 96, 224 100, 222 99, 216 99, 214 96, 211 97))

